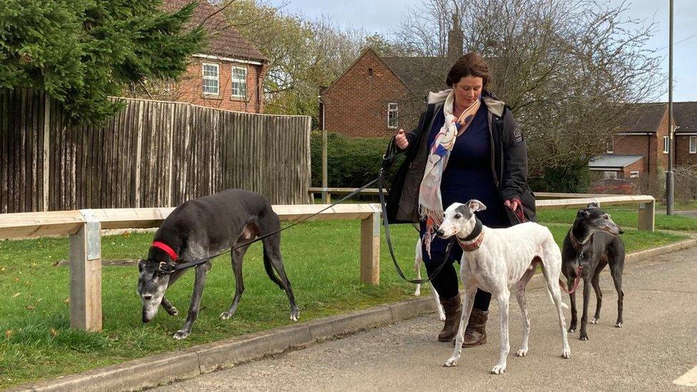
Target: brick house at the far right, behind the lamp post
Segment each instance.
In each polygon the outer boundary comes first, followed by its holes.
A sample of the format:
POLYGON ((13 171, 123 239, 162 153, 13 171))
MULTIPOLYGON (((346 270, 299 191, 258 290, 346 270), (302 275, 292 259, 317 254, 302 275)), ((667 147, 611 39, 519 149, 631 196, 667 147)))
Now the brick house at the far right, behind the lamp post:
MULTIPOLYGON (((608 141, 606 154, 588 163, 606 178, 635 179, 668 169, 668 104, 636 104, 631 116, 608 141)), ((673 103, 675 165, 697 164, 697 102, 673 103)))

